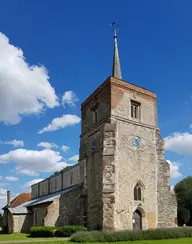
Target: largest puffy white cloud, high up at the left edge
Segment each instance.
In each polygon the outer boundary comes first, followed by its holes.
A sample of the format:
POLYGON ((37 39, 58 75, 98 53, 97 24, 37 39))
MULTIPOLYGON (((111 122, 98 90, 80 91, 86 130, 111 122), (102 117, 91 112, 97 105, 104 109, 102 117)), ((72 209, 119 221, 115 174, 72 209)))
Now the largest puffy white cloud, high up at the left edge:
POLYGON ((45 67, 26 62, 23 51, 0 32, 0 121, 17 124, 23 116, 59 105, 45 67))

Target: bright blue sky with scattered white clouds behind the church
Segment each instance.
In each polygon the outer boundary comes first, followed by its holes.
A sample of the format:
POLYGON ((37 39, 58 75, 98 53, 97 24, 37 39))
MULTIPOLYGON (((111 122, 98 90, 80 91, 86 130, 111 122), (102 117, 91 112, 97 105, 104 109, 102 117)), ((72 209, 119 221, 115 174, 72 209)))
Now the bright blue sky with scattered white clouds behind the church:
POLYGON ((0 2, 0 207, 78 160, 80 105, 112 71, 155 91, 171 185, 192 172, 192 1, 0 2))

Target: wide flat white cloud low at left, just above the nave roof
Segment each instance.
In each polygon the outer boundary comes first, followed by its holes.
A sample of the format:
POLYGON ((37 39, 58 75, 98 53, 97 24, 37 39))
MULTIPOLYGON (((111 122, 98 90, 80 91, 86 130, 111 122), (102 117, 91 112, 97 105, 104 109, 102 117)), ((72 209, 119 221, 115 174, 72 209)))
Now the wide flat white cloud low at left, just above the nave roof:
POLYGON ((37 151, 20 148, 0 155, 0 163, 15 163, 16 172, 26 175, 59 171, 67 166, 59 152, 48 149, 37 151))

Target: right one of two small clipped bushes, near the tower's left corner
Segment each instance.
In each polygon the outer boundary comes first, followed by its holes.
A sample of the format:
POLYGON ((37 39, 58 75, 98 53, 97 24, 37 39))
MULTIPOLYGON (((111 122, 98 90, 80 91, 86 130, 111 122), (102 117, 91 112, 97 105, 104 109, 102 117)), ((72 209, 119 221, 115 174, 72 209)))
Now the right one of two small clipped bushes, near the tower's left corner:
POLYGON ((69 225, 69 226, 62 226, 57 229, 55 232, 55 236, 58 237, 69 237, 72 234, 76 233, 77 231, 86 231, 87 229, 84 226, 75 226, 75 225, 69 225))

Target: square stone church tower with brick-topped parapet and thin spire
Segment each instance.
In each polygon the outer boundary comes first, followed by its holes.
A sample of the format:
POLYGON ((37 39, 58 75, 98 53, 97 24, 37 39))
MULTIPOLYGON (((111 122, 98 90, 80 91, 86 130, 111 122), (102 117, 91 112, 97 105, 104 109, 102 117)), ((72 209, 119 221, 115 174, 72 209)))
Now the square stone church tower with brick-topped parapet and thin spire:
POLYGON ((112 76, 81 105, 80 179, 92 230, 176 226, 156 94, 122 80, 114 29, 112 76))

